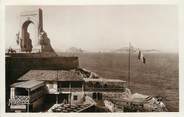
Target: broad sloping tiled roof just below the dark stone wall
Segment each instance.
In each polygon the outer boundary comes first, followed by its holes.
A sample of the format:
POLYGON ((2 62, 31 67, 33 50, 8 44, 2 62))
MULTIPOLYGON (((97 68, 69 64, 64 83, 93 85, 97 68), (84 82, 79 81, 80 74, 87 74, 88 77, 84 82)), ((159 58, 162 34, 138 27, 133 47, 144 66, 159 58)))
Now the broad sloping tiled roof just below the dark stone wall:
POLYGON ((83 81, 83 78, 76 70, 30 70, 18 80, 83 81))

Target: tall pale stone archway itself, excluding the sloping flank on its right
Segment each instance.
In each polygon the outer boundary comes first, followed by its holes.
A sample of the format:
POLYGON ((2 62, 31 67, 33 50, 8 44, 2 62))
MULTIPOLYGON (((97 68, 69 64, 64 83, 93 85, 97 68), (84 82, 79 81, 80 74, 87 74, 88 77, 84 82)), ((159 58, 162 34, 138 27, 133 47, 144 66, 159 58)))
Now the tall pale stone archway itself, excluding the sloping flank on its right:
POLYGON ((20 14, 20 47, 22 52, 31 52, 32 48, 41 50, 39 43, 39 35, 43 31, 43 18, 42 10, 27 11, 20 14), (27 31, 28 26, 33 24, 35 26, 36 37, 30 39, 30 34, 27 31), (36 42, 36 45, 32 44, 32 40, 36 42))

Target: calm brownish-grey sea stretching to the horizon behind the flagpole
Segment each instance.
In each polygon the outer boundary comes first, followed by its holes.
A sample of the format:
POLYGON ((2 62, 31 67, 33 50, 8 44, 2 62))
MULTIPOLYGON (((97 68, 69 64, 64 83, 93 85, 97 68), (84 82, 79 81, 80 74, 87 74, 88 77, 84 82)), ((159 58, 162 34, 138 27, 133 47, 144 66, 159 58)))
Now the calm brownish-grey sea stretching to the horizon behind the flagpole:
MULTIPOLYGON (((66 55, 60 53, 61 55, 66 55)), ((128 54, 83 53, 79 57, 80 67, 96 72, 104 78, 128 78, 128 54)), ((131 55, 132 92, 164 97, 169 111, 179 111, 178 55, 169 53, 144 54, 146 64, 131 55)))

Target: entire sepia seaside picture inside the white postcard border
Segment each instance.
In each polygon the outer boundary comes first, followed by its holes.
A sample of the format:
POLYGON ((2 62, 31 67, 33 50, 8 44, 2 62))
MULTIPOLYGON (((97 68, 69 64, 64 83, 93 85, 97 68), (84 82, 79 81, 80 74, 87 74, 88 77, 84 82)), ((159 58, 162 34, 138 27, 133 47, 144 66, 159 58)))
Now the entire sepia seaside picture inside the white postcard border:
POLYGON ((180 111, 178 6, 6 5, 5 113, 180 111))

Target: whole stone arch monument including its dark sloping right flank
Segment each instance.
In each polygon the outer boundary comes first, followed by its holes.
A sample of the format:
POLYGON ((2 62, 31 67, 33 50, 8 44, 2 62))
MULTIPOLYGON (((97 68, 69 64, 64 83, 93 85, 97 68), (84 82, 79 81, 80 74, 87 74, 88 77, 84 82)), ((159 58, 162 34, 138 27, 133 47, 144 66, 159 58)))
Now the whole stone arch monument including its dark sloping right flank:
MULTIPOLYGON (((20 33, 18 40, 20 41, 21 52, 32 52, 33 49, 39 52, 54 52, 47 33, 43 30, 43 13, 41 9, 36 11, 26 11, 20 14, 20 33), (35 26, 36 36, 31 39, 28 32, 30 24, 35 26), (35 41, 33 46, 32 40, 35 41), (44 42, 44 43, 43 43, 44 42)), ((19 42, 18 41, 18 42, 19 42)))

